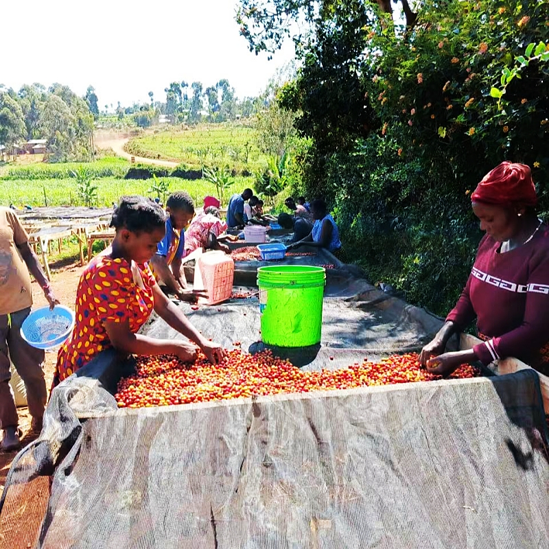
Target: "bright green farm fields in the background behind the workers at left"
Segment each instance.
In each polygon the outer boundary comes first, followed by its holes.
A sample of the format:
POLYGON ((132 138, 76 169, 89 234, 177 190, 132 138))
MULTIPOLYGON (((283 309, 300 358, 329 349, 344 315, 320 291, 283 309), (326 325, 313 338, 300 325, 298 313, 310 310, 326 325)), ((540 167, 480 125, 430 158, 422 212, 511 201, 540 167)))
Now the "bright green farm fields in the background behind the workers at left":
MULTIPOLYGON (((156 158, 161 154, 165 159, 176 159, 183 170, 200 170, 202 165, 209 167, 226 165, 233 173, 233 185, 224 191, 224 201, 245 187, 252 187, 251 175, 266 164, 266 156, 261 154, 255 144, 255 133, 250 126, 242 124, 201 124, 187 130, 161 128, 128 143, 136 156, 156 158), (134 148, 139 148, 133 150, 134 148)), ((148 170, 156 174, 159 180, 167 183, 167 193, 186 190, 195 200, 196 207, 202 205, 207 194, 218 196, 215 185, 205 179, 190 180, 171 177, 172 168, 132 164, 119 156, 105 156, 93 162, 45 163, 26 161, 25 157, 16 163, 0 166, 0 205, 32 207, 83 205, 84 200, 78 194, 78 181, 73 172, 84 170, 97 187, 97 200, 94 205, 104 207, 117 202, 124 194, 141 194, 155 197, 154 179, 134 178, 139 170, 148 170), (128 174, 128 172, 130 172, 128 174), (126 179, 126 176, 128 179, 126 179)), ((137 175, 137 177, 143 174, 137 175)), ((144 175, 148 175, 145 173, 144 175)), ((163 198, 163 197, 161 197, 163 198)))

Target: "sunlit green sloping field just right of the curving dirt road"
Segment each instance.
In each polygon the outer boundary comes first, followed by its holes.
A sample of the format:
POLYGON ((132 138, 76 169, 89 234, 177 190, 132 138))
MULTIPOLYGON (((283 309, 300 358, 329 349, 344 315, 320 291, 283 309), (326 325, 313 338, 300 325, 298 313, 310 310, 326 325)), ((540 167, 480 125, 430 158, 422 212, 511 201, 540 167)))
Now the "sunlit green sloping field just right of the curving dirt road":
POLYGON ((147 158, 160 155, 161 159, 194 169, 205 163, 254 172, 266 163, 266 156, 255 143, 255 130, 240 124, 202 124, 185 130, 158 130, 131 139, 126 150, 147 158))

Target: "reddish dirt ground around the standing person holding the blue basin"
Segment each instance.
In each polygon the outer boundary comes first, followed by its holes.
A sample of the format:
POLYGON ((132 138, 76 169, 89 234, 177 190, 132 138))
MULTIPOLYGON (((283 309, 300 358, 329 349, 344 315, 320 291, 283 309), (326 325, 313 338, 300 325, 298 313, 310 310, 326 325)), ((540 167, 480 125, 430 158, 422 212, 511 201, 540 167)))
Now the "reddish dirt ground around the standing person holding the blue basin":
MULTIPOLYGON (((62 305, 67 305, 71 309, 74 309, 76 287, 78 280, 80 279, 80 273, 83 267, 80 264, 65 264, 57 265, 51 264, 51 286, 54 288, 54 292, 57 299, 62 305)), ((32 283, 32 298, 34 300, 34 307, 42 307, 47 305, 47 301, 44 297, 43 291, 38 284, 33 281, 32 283)), ((51 386, 51 380, 54 377, 54 369, 56 365, 57 351, 46 352, 46 360, 44 364, 44 371, 46 377, 46 386, 49 392, 51 386)), ((31 417, 27 408, 18 408, 19 414, 19 428, 23 431, 21 437, 21 447, 24 447, 34 439, 38 434, 30 431, 31 417)), ((0 450, 0 495, 5 484, 5 476, 8 474, 10 465, 17 452, 1 452, 0 450)))

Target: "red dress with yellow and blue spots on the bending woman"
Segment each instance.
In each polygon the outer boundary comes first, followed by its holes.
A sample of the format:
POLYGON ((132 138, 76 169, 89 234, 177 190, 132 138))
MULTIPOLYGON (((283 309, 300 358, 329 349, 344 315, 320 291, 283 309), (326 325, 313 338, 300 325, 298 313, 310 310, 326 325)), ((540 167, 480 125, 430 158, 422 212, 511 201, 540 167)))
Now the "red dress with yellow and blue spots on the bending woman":
POLYGON ((155 283, 147 264, 132 267, 125 259, 103 256, 86 267, 76 292, 73 333, 57 355, 54 386, 111 347, 107 320, 128 320, 133 334, 139 330, 152 312, 155 283))

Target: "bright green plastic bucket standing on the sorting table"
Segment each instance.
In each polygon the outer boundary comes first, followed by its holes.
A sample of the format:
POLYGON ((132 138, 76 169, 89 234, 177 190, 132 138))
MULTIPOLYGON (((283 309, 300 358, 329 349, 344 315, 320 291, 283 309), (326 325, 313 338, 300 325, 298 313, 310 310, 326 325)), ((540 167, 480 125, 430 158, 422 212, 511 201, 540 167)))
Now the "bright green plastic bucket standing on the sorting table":
POLYGON ((325 283, 323 267, 260 267, 257 285, 263 342, 277 347, 320 343, 325 283))

